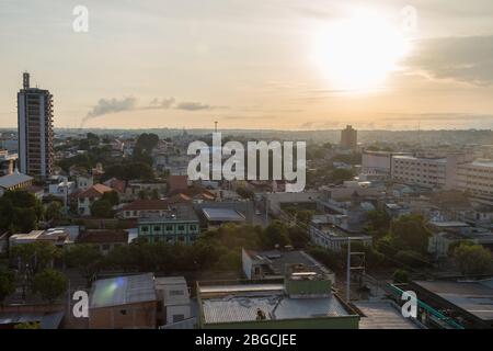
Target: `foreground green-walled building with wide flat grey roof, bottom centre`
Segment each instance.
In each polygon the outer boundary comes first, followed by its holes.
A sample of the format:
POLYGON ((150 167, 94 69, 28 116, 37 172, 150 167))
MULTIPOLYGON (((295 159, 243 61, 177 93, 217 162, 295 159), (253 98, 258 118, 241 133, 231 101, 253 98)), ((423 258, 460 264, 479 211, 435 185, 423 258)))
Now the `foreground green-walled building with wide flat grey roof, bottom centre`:
POLYGON ((291 270, 278 282, 197 283, 204 329, 358 329, 359 315, 332 292, 328 276, 291 270))

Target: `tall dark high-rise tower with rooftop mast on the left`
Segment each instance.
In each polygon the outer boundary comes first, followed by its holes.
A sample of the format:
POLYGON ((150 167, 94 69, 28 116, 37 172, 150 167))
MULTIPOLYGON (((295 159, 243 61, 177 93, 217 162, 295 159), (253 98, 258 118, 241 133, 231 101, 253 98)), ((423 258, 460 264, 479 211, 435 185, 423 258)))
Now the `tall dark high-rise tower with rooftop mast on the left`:
POLYGON ((33 177, 46 178, 54 166, 53 95, 48 90, 30 87, 30 73, 23 75, 18 93, 19 168, 33 177))

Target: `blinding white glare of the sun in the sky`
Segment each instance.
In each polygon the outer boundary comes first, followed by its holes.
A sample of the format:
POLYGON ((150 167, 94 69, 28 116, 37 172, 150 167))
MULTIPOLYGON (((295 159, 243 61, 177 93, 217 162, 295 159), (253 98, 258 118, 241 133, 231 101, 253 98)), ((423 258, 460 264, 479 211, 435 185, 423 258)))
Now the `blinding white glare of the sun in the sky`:
POLYGON ((368 91, 381 89, 409 50, 400 27, 385 18, 359 13, 319 30, 312 58, 333 89, 368 91))

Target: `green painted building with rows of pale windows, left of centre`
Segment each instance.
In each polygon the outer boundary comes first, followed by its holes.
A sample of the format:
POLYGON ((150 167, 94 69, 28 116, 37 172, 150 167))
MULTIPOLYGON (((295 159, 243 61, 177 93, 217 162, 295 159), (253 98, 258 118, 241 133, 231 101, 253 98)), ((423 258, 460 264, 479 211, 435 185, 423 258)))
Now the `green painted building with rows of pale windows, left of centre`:
POLYGON ((149 242, 183 242, 190 245, 200 234, 200 225, 191 205, 176 204, 160 216, 141 217, 138 220, 139 238, 149 242))

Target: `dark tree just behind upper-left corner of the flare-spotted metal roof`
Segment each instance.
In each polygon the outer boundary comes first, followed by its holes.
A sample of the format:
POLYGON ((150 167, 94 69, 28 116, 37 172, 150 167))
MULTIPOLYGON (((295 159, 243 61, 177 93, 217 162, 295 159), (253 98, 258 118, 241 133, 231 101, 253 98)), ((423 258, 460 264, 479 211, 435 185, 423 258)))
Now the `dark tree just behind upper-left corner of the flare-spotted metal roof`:
POLYGON ((77 268, 88 285, 99 272, 102 259, 102 253, 92 245, 76 245, 64 252, 64 261, 67 265, 77 268))

